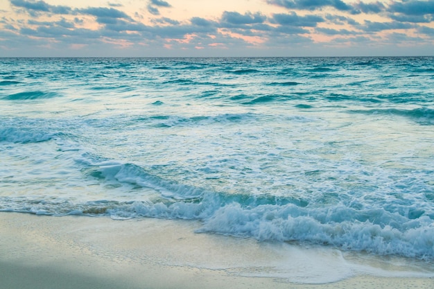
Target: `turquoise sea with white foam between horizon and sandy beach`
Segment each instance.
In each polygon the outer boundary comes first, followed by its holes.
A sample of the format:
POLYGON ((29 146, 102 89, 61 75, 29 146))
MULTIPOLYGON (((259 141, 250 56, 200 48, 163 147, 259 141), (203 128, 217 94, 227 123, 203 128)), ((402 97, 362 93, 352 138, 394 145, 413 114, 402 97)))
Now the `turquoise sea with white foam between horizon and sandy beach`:
POLYGON ((433 57, 0 58, 0 163, 1 212, 191 220, 434 277, 433 57))

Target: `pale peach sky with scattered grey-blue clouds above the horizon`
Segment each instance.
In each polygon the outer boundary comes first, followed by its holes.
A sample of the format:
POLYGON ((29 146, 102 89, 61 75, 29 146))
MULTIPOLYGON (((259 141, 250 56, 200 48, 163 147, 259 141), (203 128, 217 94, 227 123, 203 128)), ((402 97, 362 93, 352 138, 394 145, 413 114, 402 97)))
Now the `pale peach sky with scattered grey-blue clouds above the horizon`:
POLYGON ((434 0, 1 0, 0 57, 434 55, 434 0))

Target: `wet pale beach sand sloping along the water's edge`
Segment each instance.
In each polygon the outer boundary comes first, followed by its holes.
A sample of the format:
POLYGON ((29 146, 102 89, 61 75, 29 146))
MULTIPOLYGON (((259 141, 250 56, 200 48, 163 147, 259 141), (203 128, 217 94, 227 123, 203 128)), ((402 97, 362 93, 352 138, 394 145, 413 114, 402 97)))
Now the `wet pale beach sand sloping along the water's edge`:
POLYGON ((340 257, 331 250, 321 271, 312 263, 318 260, 299 260, 322 254, 314 247, 285 247, 300 270, 287 278, 276 269, 288 262, 283 245, 196 234, 199 227, 182 220, 0 213, 0 288, 434 288, 426 272, 400 277, 397 268, 389 276, 379 268, 378 275, 351 271, 345 278, 340 268, 333 277, 340 280, 324 283, 321 274, 333 272, 340 257))

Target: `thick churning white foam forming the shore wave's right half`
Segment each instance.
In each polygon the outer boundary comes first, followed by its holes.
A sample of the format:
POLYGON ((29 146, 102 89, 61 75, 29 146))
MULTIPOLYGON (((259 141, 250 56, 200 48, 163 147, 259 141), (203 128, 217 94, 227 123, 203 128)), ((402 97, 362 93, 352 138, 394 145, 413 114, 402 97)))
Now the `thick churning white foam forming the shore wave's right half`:
POLYGON ((246 209, 240 204, 229 204, 207 219, 201 231, 433 259, 432 223, 428 216, 409 220, 383 209, 306 209, 293 204, 246 209))

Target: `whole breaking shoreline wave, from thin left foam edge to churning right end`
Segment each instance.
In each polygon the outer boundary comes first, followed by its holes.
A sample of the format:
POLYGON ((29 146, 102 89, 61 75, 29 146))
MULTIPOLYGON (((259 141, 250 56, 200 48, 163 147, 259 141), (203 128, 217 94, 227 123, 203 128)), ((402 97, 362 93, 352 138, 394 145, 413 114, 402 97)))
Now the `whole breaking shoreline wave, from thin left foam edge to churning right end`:
MULTIPOLYGON (((96 166, 96 164, 94 164, 96 166)), ((110 216, 200 220, 198 233, 222 234, 259 241, 329 245, 344 250, 380 255, 399 255, 433 260, 434 216, 422 213, 408 218, 385 209, 354 209, 336 204, 311 207, 297 198, 234 195, 177 184, 147 173, 134 164, 98 164, 104 179, 139 184, 161 193, 148 201, 68 200, 0 198, 0 211, 38 215, 110 216), (8 204, 15 209, 8 209, 8 204)))

